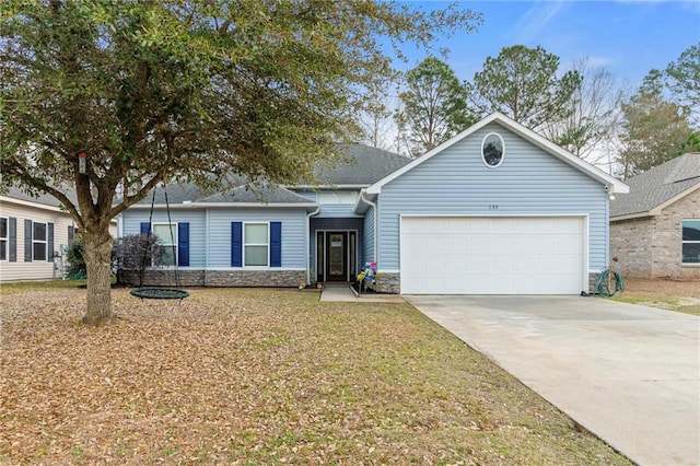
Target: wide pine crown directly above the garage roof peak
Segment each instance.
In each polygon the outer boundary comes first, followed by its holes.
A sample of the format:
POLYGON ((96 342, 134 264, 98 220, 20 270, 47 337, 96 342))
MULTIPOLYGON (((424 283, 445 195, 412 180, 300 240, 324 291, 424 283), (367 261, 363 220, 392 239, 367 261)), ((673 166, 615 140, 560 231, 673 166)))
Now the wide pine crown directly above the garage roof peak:
POLYGON ((470 101, 482 114, 500 112, 539 130, 570 112, 567 103, 581 81, 575 70, 561 77, 558 71, 559 57, 541 46, 504 47, 474 74, 468 84, 470 101))

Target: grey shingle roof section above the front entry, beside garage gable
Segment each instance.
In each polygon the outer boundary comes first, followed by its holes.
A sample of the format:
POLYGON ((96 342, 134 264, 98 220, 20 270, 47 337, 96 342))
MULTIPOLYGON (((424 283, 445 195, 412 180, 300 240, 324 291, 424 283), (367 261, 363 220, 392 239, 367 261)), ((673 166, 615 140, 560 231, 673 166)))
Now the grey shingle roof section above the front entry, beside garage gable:
POLYGON ((353 143, 339 144, 342 156, 316 173, 322 186, 364 187, 408 164, 411 159, 384 149, 353 143))

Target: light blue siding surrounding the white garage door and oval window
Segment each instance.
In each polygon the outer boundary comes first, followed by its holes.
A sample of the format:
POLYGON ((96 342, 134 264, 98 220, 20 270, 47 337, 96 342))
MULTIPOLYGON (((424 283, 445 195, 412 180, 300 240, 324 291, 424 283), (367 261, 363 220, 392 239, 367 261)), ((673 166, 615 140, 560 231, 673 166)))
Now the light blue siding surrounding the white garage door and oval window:
POLYGON ((481 128, 386 184, 377 206, 381 270, 399 269, 399 215, 435 213, 588 214, 588 267, 607 264, 604 186, 498 124, 481 128), (505 143, 503 162, 495 168, 481 161, 481 140, 491 131, 505 143))

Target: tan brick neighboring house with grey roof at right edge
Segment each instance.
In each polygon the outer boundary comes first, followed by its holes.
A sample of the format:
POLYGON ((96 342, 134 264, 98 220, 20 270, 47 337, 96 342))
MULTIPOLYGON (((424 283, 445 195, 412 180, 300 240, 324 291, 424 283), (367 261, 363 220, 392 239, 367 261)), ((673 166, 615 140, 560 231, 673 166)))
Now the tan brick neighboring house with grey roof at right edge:
POLYGON ((700 278, 700 153, 626 182, 610 202, 610 255, 623 276, 700 278))

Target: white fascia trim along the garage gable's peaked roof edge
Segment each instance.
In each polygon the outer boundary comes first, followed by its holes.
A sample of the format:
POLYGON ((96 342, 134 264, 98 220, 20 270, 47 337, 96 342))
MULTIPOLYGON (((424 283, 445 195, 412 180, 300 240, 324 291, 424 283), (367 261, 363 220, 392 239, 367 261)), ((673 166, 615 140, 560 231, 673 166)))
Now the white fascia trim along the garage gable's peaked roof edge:
POLYGON ((585 173, 586 175, 591 176, 592 178, 603 183, 604 185, 608 186, 608 193, 609 194, 614 194, 614 193, 619 193, 619 194, 627 194, 630 191, 629 186, 627 186, 625 183, 620 182, 619 179, 608 175, 607 173, 605 173, 604 171, 602 171, 600 168, 590 164, 588 162, 585 162, 584 160, 575 156, 574 154, 565 151, 564 149, 560 148, 559 145, 555 144, 553 142, 545 139, 544 137, 539 136, 538 133, 536 133, 535 131, 524 127, 523 125, 518 124, 517 121, 506 117, 503 114, 500 113, 493 113, 491 115, 489 115, 488 117, 483 118, 482 120, 480 120, 479 123, 477 123, 476 125, 467 128, 466 130, 462 131, 459 135, 455 136, 454 138, 443 142, 442 144, 438 145, 436 148, 434 148, 433 150, 427 152, 424 155, 419 156, 418 159, 416 159, 415 161, 410 162, 407 165, 404 165, 402 167, 400 167, 399 170, 397 170, 394 173, 390 173, 389 175, 385 176, 384 178, 380 179, 378 182, 374 183, 373 185, 369 186, 366 191, 368 194, 380 194, 382 193, 382 187, 384 185, 386 185, 389 182, 393 182, 394 179, 398 178, 399 176, 401 176, 402 174, 405 174, 406 172, 413 170, 413 167, 420 165, 421 163, 427 162, 428 160, 432 159, 434 155, 439 154, 440 152, 444 151, 445 149, 451 148, 452 145, 456 144, 457 142, 462 141, 463 139, 467 138, 468 136, 475 133, 476 131, 480 130, 481 128, 483 128, 487 125, 490 125, 492 123, 498 123, 501 126, 505 127, 506 129, 513 131, 514 133, 521 136, 523 139, 532 142, 533 144, 539 147, 540 149, 545 150, 546 152, 555 155, 556 158, 562 160, 563 162, 568 163, 569 165, 572 165, 573 167, 578 168, 579 171, 585 173))

